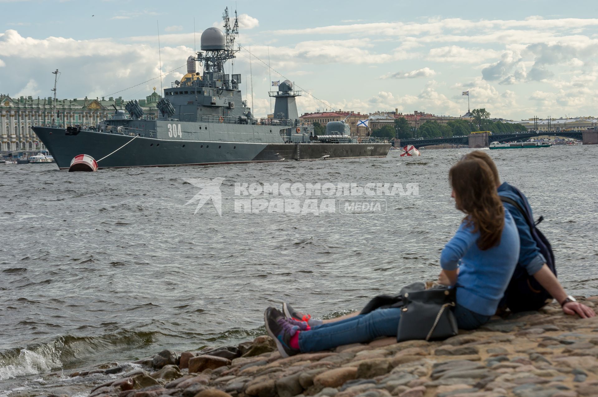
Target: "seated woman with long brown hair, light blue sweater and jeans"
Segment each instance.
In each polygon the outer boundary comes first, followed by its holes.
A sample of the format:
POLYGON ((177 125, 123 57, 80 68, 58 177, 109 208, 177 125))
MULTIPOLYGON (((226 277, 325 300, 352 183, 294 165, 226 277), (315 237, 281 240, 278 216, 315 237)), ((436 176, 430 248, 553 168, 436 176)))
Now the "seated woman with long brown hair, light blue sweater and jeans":
MULTIPOLYGON (((458 162, 449 171, 449 181, 451 197, 465 218, 440 255, 439 280, 457 288, 454 314, 459 328, 473 330, 496 312, 517 264, 519 236, 485 162, 458 162)), ((396 336, 400 318, 401 309, 394 307, 310 328, 274 307, 264 313, 266 330, 283 357, 396 336)))

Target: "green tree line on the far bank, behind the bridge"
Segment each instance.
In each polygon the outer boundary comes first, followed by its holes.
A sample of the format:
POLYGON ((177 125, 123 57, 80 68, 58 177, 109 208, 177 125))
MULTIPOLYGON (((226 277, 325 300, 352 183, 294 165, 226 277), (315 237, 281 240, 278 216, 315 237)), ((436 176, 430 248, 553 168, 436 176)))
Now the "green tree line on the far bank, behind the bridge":
POLYGON ((492 131, 493 134, 514 133, 527 131, 521 124, 511 124, 502 121, 490 121, 490 112, 486 109, 471 110, 471 121, 451 120, 446 124, 437 121, 426 121, 415 130, 404 117, 395 119, 394 125, 385 125, 372 131, 373 137, 382 139, 414 139, 414 138, 450 138, 463 136, 475 131, 492 131))

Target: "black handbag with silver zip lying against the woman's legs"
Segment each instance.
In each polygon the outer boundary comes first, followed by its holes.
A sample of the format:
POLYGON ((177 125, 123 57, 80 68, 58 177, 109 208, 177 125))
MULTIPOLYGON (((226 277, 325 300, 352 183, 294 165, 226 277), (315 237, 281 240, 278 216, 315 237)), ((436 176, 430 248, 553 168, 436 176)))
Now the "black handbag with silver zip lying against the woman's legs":
POLYGON ((402 309, 396 341, 444 340, 459 332, 453 313, 455 289, 445 286, 428 290, 421 282, 401 290, 402 309))

